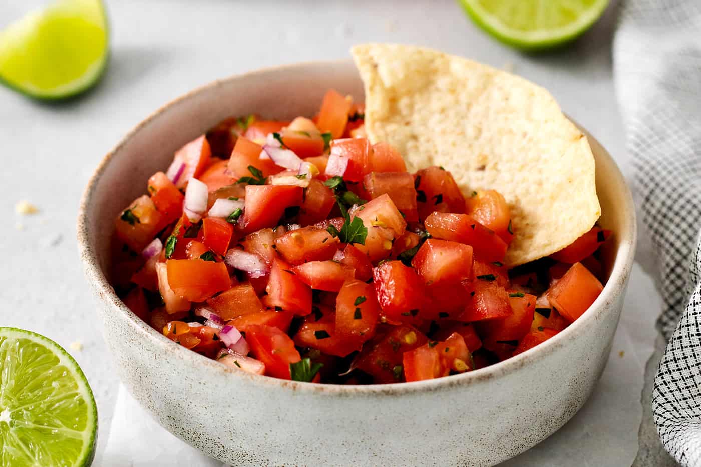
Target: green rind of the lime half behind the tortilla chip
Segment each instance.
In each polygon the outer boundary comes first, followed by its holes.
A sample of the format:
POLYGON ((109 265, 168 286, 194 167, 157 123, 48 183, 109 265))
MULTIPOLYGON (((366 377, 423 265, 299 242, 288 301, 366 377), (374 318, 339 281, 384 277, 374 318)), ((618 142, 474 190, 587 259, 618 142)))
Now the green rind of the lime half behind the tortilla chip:
MULTIPOLYGON (((606 10, 608 0, 596 0, 576 21, 562 27, 532 29, 524 31, 512 29, 495 15, 484 10, 479 0, 457 0, 475 25, 499 41, 526 52, 538 52, 559 48, 577 39, 596 22, 606 10)), ((557 1, 557 0, 551 0, 557 1)))

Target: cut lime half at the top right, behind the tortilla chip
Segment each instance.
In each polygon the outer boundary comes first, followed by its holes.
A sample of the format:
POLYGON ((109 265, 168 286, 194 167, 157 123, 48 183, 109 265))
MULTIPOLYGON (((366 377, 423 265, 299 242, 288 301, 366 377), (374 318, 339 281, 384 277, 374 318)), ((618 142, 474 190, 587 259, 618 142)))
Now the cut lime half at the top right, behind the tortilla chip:
POLYGON ((608 0, 458 0, 479 27, 522 50, 576 39, 604 13, 608 0))

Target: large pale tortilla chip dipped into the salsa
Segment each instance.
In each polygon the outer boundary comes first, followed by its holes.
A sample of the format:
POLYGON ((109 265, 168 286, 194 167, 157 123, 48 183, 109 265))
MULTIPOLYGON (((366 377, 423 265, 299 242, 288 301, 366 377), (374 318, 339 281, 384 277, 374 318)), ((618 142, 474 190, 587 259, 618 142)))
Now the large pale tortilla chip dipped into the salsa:
POLYGON ((545 89, 427 48, 373 43, 352 53, 372 142, 392 144, 412 172, 443 165, 463 193, 503 194, 508 266, 562 250, 599 219, 589 142, 545 89))

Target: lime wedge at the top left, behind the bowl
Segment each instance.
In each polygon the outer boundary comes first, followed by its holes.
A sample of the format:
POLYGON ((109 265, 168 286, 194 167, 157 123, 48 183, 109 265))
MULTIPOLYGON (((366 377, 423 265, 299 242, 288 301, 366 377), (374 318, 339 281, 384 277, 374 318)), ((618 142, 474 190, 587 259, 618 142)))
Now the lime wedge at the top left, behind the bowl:
POLYGON ((92 86, 108 55, 101 0, 58 0, 0 32, 0 80, 39 99, 62 99, 92 86))

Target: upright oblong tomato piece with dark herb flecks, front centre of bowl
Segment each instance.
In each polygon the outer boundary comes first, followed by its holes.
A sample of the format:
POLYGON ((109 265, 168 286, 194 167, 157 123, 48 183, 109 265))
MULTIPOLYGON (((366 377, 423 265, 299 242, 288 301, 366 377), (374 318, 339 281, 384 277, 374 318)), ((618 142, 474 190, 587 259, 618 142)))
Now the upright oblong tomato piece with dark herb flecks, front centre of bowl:
POLYGON ((374 287, 348 280, 336 297, 336 334, 360 342, 372 339, 379 314, 374 287))

